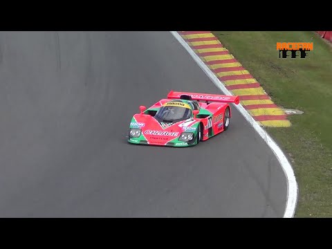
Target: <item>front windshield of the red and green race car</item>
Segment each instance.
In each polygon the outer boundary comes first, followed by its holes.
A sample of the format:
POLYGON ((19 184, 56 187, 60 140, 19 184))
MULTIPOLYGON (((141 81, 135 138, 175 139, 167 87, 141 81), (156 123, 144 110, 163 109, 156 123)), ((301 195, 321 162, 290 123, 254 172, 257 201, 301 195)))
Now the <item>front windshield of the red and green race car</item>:
POLYGON ((162 122, 182 120, 192 117, 192 109, 186 107, 164 106, 158 110, 156 116, 162 119, 162 122))

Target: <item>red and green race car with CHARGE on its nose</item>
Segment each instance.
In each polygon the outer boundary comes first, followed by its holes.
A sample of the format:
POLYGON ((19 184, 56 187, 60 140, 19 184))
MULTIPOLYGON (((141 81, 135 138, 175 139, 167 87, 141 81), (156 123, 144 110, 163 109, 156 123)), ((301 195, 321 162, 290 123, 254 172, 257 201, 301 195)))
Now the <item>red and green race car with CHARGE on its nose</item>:
POLYGON ((131 118, 128 142, 140 145, 189 147, 226 131, 239 96, 170 91, 167 99, 131 118))

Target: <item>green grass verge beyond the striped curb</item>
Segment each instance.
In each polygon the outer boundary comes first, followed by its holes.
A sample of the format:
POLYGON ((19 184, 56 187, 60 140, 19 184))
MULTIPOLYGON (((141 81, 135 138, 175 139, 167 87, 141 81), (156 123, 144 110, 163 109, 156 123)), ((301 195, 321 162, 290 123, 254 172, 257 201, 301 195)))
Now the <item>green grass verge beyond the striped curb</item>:
POLYGON ((332 217, 332 46, 311 31, 213 31, 273 101, 304 111, 268 133, 292 160, 299 185, 295 217, 332 217), (279 59, 277 42, 313 42, 306 59, 279 59))

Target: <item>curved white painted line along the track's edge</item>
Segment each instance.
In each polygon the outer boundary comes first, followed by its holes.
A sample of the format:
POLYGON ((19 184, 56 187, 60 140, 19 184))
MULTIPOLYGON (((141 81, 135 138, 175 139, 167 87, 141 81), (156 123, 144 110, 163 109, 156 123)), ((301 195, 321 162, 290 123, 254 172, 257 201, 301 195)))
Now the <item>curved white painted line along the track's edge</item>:
MULTIPOLYGON (((225 95, 233 95, 228 89, 225 88, 225 85, 214 75, 214 73, 208 68, 208 66, 205 65, 205 63, 201 60, 199 55, 196 55, 194 50, 190 48, 190 46, 185 42, 185 40, 179 35, 176 31, 170 31, 172 35, 180 42, 180 44, 187 50, 188 53, 192 56, 194 61, 199 64, 199 66, 202 68, 202 70, 210 77, 210 80, 218 86, 218 88, 223 91, 225 95)), ((273 151, 277 159, 279 160, 280 165, 282 166, 282 169, 284 171, 284 174, 286 175, 287 179, 287 201, 286 201, 286 208, 284 212, 284 218, 293 218, 295 214, 296 204, 297 204, 297 182, 295 179, 294 171, 291 166, 291 164, 288 162, 288 159, 284 155, 284 152, 280 147, 277 145, 275 140, 271 138, 268 133, 261 127, 259 124, 250 116, 250 114, 244 109, 244 107, 241 104, 234 105, 239 112, 246 118, 250 124, 252 124, 252 127, 259 133, 259 136, 263 138, 266 141, 266 144, 270 149, 273 151)))

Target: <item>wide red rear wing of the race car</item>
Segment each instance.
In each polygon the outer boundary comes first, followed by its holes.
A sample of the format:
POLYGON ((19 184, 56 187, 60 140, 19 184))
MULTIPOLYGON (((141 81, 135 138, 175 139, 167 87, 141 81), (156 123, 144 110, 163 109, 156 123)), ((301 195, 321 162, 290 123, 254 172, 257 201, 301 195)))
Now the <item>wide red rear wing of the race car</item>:
POLYGON ((192 100, 203 100, 210 102, 228 102, 239 104, 240 98, 239 96, 232 95, 218 95, 218 94, 210 94, 210 93, 186 93, 186 92, 178 92, 178 91, 170 91, 167 95, 169 99, 178 99, 181 98, 181 95, 189 95, 192 100))

